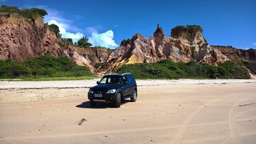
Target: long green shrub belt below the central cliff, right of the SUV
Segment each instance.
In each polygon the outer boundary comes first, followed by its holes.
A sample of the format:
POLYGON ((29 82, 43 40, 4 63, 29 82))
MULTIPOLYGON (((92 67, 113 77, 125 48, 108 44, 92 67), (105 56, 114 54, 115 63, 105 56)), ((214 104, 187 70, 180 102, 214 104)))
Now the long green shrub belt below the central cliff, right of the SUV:
POLYGON ((156 63, 126 64, 118 73, 131 72, 137 79, 176 79, 176 78, 237 78, 248 79, 248 70, 226 61, 219 66, 197 64, 195 60, 188 63, 161 60, 156 63))

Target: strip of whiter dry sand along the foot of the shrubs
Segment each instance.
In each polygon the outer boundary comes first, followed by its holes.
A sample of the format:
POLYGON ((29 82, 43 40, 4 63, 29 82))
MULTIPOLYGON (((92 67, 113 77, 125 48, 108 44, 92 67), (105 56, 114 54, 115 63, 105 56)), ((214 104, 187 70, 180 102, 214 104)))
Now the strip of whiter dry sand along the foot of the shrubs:
MULTIPOLYGON (((7 88, 90 88, 96 85, 95 80, 66 80, 66 81, 0 81, 0 89, 7 88)), ((252 83, 256 80, 236 80, 236 79, 218 79, 218 80, 136 80, 138 86, 152 86, 159 84, 224 84, 224 83, 252 83)))

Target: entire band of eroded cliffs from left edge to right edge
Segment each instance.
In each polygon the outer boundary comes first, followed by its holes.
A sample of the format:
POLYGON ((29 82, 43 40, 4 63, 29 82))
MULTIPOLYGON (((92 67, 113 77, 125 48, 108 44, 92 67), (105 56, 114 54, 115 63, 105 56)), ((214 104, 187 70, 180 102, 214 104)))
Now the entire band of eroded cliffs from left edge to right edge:
POLYGON ((41 17, 30 20, 19 14, 0 13, 0 60, 24 61, 41 55, 66 56, 96 74, 116 72, 123 64, 157 62, 171 59, 218 65, 226 60, 256 60, 256 50, 237 50, 232 47, 209 46, 201 29, 173 28, 166 37, 159 25, 153 36, 135 34, 116 50, 79 48, 62 42, 41 17), (60 47, 60 45, 62 47, 60 47), (96 70, 96 63, 104 64, 96 70))

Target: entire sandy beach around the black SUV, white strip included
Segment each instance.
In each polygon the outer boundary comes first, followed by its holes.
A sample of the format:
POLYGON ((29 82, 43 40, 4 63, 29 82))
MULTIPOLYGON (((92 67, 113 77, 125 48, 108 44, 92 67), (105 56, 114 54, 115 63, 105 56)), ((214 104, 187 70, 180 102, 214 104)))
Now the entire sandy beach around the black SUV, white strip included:
POLYGON ((256 142, 256 80, 138 80, 120 108, 90 107, 95 84, 1 81, 0 143, 256 142))

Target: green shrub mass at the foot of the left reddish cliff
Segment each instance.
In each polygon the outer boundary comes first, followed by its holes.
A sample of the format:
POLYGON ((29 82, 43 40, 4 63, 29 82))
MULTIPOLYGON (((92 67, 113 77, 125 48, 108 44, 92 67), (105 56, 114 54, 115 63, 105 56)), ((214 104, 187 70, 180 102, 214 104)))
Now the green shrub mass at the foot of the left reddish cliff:
POLYGON ((78 66, 66 57, 39 56, 25 62, 0 60, 0 78, 42 78, 93 76, 86 66, 78 66))

